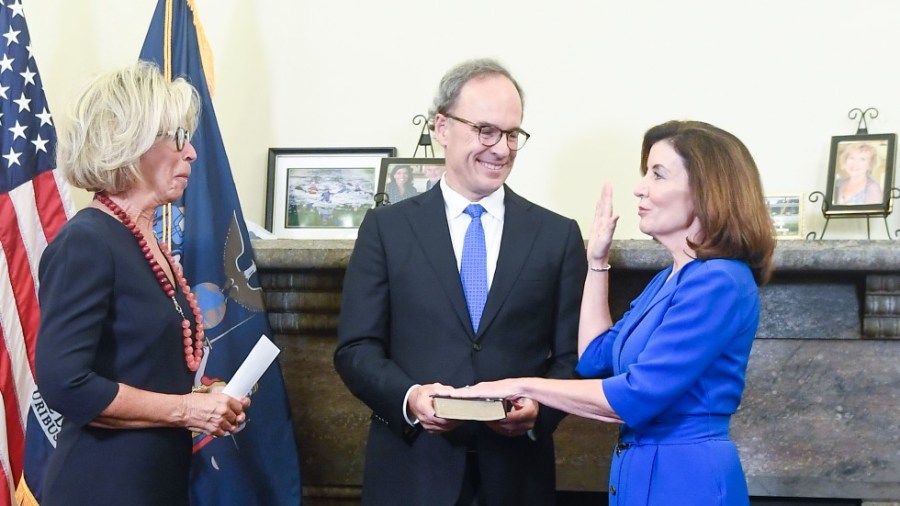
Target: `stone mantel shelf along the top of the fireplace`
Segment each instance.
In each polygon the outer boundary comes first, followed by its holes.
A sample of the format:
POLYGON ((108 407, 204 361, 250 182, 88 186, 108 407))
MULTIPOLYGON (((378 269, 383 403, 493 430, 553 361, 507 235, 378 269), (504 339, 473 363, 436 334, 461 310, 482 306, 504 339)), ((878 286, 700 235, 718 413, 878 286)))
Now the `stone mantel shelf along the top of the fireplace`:
MULTIPOLYGON (((347 267, 353 240, 254 240, 256 261, 267 269, 347 267)), ((668 265, 665 249, 651 240, 613 241, 610 263, 616 269, 659 270, 668 265)), ((900 271, 900 242, 780 241, 776 271, 900 271)))

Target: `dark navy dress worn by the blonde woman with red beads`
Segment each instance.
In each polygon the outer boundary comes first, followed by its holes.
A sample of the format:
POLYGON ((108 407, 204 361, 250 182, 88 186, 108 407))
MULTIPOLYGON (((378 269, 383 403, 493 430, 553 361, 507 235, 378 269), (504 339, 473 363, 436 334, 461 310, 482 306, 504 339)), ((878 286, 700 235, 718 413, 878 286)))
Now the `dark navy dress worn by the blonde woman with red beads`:
MULTIPOLYGON (((112 216, 84 209, 47 247, 39 272, 37 384, 65 417, 42 506, 187 505, 190 431, 87 425, 118 383, 168 394, 188 393, 193 383, 181 316, 134 236, 112 216)), ((184 296, 176 297, 188 314, 184 296)))

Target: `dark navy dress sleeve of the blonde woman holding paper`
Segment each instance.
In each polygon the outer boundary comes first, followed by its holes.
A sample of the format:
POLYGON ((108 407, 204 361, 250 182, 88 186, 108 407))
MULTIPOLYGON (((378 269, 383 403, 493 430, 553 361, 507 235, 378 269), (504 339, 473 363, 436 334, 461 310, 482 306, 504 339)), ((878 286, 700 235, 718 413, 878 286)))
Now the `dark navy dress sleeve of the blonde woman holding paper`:
POLYGON ((97 246, 100 238, 72 225, 41 258, 35 373, 47 404, 81 426, 109 406, 119 386, 92 369, 109 314, 112 258, 97 246))

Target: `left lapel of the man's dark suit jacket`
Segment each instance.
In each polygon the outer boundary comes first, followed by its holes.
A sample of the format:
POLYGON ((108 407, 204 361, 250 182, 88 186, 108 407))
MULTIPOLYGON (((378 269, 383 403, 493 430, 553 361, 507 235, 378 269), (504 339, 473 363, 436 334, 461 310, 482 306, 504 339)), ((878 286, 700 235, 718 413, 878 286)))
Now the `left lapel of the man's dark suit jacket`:
POLYGON ((469 338, 474 339, 472 320, 466 307, 466 297, 463 294, 459 270, 456 267, 456 255, 453 253, 453 243, 447 226, 444 195, 441 193, 440 185, 436 186, 410 199, 417 205, 407 206, 406 219, 425 253, 426 261, 439 280, 440 290, 447 296, 450 306, 459 317, 469 338))

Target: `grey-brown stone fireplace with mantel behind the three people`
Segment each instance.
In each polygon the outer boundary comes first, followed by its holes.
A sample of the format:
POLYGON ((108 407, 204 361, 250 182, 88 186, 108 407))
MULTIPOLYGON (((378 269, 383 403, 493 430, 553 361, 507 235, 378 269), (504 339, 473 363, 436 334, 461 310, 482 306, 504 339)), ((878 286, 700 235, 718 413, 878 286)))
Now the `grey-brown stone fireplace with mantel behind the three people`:
MULTIPOLYGON (((332 363, 353 246, 253 242, 283 351, 304 502, 312 504, 357 504, 362 481, 371 411, 332 363)), ((614 241, 614 313, 627 310, 670 262, 651 240, 614 241)), ((896 433, 900 401, 900 242, 781 241, 774 264, 760 290, 760 328, 732 424, 751 494, 900 500, 900 441, 886 437, 896 433)), ((602 491, 609 473, 603 449, 615 444, 615 427, 570 416, 555 440, 558 487, 602 491)))

